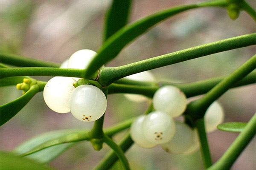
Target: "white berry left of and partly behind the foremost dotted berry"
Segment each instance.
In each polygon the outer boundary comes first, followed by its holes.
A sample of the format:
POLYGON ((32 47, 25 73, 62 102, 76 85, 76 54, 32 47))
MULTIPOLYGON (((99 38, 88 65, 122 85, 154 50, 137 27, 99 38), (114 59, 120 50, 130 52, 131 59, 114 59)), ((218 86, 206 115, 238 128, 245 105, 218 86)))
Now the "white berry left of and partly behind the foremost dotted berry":
POLYGON ((52 111, 70 112, 70 95, 75 90, 73 82, 71 77, 53 77, 44 86, 44 101, 52 111))

